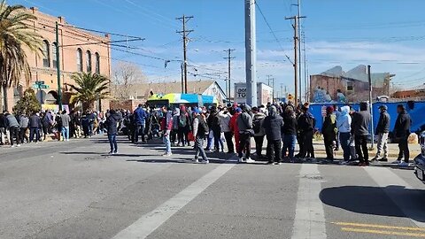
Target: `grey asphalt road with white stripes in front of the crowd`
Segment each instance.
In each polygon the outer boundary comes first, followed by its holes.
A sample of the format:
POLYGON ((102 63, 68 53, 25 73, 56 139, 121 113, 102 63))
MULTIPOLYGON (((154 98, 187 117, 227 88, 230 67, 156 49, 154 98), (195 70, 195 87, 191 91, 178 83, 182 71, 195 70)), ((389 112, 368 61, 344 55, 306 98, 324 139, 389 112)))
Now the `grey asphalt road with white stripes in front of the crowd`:
POLYGON ((0 238, 420 238, 412 170, 236 164, 104 137, 0 148, 0 238))

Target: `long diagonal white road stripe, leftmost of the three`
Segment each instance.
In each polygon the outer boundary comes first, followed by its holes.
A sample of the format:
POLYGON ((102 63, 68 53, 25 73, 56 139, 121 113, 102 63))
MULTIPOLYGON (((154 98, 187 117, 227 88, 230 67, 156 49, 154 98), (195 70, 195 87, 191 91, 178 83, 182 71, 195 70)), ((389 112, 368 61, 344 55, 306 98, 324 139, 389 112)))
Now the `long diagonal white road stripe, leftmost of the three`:
POLYGON ((171 218, 175 212, 182 209, 183 206, 189 204, 195 197, 208 188, 214 181, 220 179, 224 173, 227 173, 234 164, 222 164, 217 166, 210 173, 206 173, 202 178, 190 184, 186 189, 174 197, 168 199, 164 204, 160 204, 152 212, 144 214, 139 220, 120 231, 113 239, 133 239, 146 238, 151 235, 166 220, 171 218))

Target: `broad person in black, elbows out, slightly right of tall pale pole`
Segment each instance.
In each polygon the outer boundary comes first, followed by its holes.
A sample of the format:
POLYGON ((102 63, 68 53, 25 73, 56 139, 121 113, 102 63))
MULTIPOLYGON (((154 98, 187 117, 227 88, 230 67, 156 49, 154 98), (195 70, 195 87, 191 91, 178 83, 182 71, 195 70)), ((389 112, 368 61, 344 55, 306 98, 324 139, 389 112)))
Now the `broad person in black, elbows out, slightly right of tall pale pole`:
POLYGON ((282 130, 283 119, 277 113, 276 106, 268 108, 268 116, 264 119, 262 127, 267 137, 267 159, 268 164, 280 165, 282 161, 282 130))

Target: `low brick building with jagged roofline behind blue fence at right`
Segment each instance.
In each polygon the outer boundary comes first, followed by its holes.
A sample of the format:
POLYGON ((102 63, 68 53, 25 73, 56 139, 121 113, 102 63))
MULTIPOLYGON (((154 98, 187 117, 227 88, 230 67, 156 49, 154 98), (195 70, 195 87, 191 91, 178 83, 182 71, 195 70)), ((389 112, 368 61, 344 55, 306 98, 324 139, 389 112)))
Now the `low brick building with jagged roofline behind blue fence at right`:
MULTIPOLYGON (((372 93, 376 96, 390 95, 390 80, 395 74, 371 73, 372 93)), ((328 102, 329 98, 337 101, 337 93, 344 94, 347 102, 359 102, 368 100, 369 86, 367 78, 367 66, 360 65, 348 72, 344 72, 341 66, 336 66, 326 72, 310 76, 310 100, 311 102, 328 102), (327 99, 318 99, 318 91, 325 92, 327 99)), ((326 97, 324 97, 326 98, 326 97)))

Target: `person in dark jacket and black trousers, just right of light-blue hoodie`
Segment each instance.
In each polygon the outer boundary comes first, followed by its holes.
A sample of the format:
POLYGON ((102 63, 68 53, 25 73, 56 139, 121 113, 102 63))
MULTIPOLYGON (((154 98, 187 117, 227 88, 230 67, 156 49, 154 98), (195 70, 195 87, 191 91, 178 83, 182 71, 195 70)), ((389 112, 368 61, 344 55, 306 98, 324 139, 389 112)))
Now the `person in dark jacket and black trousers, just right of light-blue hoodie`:
POLYGON ((367 111, 367 103, 360 103, 360 111, 352 117, 352 135, 356 144, 356 153, 359 155, 359 166, 369 165, 369 152, 367 150, 367 136, 369 135, 370 113, 367 111))

